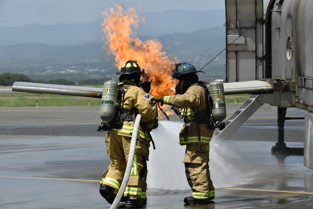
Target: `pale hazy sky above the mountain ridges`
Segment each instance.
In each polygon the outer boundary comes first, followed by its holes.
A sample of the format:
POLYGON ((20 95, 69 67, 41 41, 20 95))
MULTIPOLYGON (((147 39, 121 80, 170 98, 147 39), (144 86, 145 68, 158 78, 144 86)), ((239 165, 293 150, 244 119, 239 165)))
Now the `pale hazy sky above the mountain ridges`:
POLYGON ((0 27, 90 22, 103 18, 102 12, 114 3, 133 7, 136 13, 225 8, 224 0, 0 0, 0 27))

